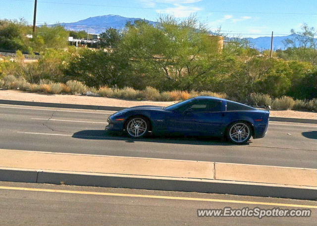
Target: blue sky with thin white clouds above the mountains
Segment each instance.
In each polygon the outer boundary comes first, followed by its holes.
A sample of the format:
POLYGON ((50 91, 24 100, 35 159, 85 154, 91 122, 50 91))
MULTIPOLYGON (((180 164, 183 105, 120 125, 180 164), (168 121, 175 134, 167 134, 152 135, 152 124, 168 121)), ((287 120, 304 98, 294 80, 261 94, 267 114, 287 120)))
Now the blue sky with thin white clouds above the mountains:
MULTIPOLYGON (((0 19, 23 17, 32 23, 33 7, 34 0, 0 0, 0 19)), ((221 26, 224 33, 243 37, 288 35, 303 23, 317 27, 317 0, 38 0, 37 21, 75 22, 106 14, 156 21, 164 13, 179 18, 196 13, 211 30, 221 26)))

